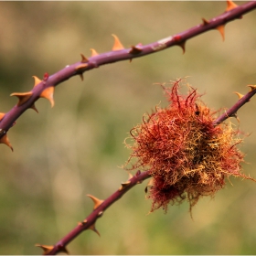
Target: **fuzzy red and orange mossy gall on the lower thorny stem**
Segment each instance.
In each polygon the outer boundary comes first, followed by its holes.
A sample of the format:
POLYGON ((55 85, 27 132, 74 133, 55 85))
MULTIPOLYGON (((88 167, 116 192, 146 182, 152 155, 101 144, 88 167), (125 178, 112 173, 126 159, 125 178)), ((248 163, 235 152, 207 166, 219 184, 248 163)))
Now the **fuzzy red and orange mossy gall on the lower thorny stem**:
POLYGON ((153 202, 151 211, 166 212, 169 205, 187 200, 191 213, 200 197, 214 197, 230 176, 254 180, 241 172, 240 132, 229 121, 215 125, 218 112, 190 86, 187 95, 180 94, 181 81, 162 85, 169 106, 144 115, 127 138, 131 143, 124 142, 132 150, 127 165, 135 158, 130 170, 150 169, 145 191, 153 202))

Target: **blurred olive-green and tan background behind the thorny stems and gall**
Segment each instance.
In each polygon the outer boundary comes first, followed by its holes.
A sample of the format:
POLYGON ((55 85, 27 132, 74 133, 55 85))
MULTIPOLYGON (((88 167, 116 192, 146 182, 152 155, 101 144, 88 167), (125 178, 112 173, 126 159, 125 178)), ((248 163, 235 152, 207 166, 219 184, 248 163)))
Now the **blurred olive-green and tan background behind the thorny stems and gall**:
MULTIPOLYGON (((244 2, 238 3, 241 5, 244 2)), ((15 106, 12 92, 30 91, 66 65, 111 50, 112 34, 128 48, 187 30, 226 9, 225 2, 0 2, 0 112, 15 106)), ((187 77, 212 109, 229 108, 256 83, 256 11, 187 41, 186 54, 165 49, 132 63, 101 66, 55 90, 55 107, 37 101, 9 131, 14 152, 0 144, 0 254, 41 254, 91 213, 87 194, 109 197, 127 173, 123 140, 144 112, 165 96, 155 82, 187 77)), ((240 111, 243 170, 256 177, 256 99, 240 111)), ((256 184, 231 178, 214 199, 148 215, 146 181, 73 240, 71 254, 255 254, 256 184)))

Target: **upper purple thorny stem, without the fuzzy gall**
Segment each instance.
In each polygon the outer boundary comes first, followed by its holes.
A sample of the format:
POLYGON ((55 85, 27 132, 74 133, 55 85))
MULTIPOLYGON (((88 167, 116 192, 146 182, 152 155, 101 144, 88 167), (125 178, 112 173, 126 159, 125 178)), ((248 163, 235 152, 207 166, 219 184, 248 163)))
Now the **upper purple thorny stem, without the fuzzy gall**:
MULTIPOLYGON (((92 56, 89 59, 86 59, 82 55, 82 59, 80 62, 69 65, 51 76, 45 76, 44 80, 37 83, 37 86, 35 86, 32 91, 29 91, 29 93, 32 92, 32 94, 29 97, 28 95, 26 96, 26 101, 24 100, 24 96, 23 101, 19 101, 19 103, 16 104, 15 107, 13 107, 9 112, 5 113, 5 116, 0 120, 0 143, 1 138, 6 136, 7 131, 16 122, 16 119, 23 112, 27 111, 28 108, 34 108, 35 101, 37 101, 40 97, 43 97, 42 93, 48 88, 55 87, 59 83, 65 80, 69 80, 69 78, 76 75, 80 75, 80 77, 82 78, 82 73, 84 71, 98 68, 104 64, 109 64, 125 59, 143 57, 145 55, 155 53, 159 50, 163 50, 165 48, 170 48, 173 46, 180 46, 185 51, 185 42, 187 41, 187 39, 197 37, 197 35, 207 32, 208 30, 223 27, 230 21, 236 18, 240 18, 242 15, 252 11, 255 8, 256 1, 251 1, 240 6, 232 7, 229 11, 226 11, 220 16, 216 16, 210 20, 203 19, 203 22, 196 27, 191 27, 184 32, 181 32, 171 37, 165 37, 164 39, 160 39, 154 43, 145 46, 138 44, 131 48, 123 48, 123 45, 121 43, 117 43, 112 48, 112 51, 105 52, 99 55, 97 55, 96 51, 93 50, 92 56)), ((118 38, 116 36, 114 37, 116 42, 118 38)))

